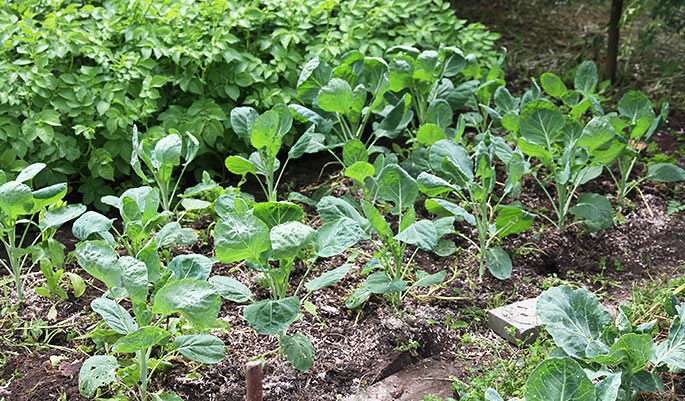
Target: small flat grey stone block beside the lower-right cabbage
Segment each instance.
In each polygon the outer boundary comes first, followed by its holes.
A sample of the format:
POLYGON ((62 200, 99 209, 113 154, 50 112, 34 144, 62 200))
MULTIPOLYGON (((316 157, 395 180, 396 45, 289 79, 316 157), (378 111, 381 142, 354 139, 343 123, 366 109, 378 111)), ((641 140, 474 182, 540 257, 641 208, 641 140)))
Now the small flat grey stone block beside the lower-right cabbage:
POLYGON ((537 298, 531 298, 488 311, 488 327, 513 344, 516 340, 534 342, 542 327, 535 314, 536 302, 537 298), (513 336, 509 328, 514 329, 513 336))

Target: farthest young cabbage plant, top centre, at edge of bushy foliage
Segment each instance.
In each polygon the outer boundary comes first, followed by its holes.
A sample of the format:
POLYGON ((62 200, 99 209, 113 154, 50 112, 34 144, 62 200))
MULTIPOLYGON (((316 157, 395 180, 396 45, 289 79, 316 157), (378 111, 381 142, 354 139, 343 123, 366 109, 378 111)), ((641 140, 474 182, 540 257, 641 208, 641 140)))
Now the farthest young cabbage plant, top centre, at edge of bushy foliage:
POLYGON ((423 52, 410 46, 395 46, 387 53, 391 57, 389 90, 395 96, 411 95, 418 126, 430 123, 446 129, 452 125, 454 111, 464 106, 463 94, 475 92, 476 88, 474 81, 459 82, 460 86, 455 87, 455 78, 469 62, 476 63, 475 57, 470 55, 467 60, 460 49, 445 46, 423 52))

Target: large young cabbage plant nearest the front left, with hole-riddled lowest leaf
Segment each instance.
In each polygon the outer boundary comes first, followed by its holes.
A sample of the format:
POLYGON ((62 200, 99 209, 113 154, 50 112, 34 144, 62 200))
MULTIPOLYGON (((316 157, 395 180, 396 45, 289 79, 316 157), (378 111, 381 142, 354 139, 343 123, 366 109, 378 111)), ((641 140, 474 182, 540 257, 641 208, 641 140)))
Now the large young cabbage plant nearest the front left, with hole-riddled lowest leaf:
POLYGON ((145 401, 150 377, 169 358, 180 354, 212 364, 225 356, 223 341, 207 333, 223 327, 217 321, 221 297, 207 281, 212 262, 202 255, 180 255, 165 267, 156 252, 144 258, 119 257, 99 240, 76 248, 81 267, 107 285, 108 291, 93 300, 91 308, 108 327, 107 338, 113 339, 107 355, 91 356, 83 363, 79 391, 84 397, 97 396, 99 388, 123 380, 127 387, 137 387, 137 398, 145 401), (130 301, 133 314, 123 300, 130 301), (179 314, 188 322, 183 332, 169 319, 179 314))

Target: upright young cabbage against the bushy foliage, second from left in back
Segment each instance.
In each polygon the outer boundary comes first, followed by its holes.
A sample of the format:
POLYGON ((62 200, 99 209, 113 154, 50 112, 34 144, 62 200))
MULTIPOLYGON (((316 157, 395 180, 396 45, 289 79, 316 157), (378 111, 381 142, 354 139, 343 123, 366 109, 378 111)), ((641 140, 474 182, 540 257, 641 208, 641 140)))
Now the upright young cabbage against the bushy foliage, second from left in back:
POLYGON ((293 145, 281 166, 278 152, 292 123, 292 113, 283 104, 278 104, 261 115, 251 107, 236 107, 231 110, 233 130, 238 136, 249 140, 256 151, 247 159, 242 156, 227 157, 226 168, 231 173, 242 176, 243 180, 247 174, 252 174, 269 202, 278 200, 278 184, 290 159, 297 159, 304 153, 318 152, 318 141, 323 140, 313 130, 308 130, 293 145))

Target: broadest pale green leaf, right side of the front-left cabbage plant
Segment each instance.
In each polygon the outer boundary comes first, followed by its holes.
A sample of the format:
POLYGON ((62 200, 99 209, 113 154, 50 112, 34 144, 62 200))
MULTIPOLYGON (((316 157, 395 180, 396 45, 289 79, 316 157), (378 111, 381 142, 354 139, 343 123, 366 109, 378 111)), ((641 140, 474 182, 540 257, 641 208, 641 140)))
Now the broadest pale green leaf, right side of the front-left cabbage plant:
POLYGON ((155 295, 152 312, 165 316, 181 312, 189 322, 207 327, 216 320, 221 309, 221 297, 206 281, 190 278, 173 281, 155 295))

